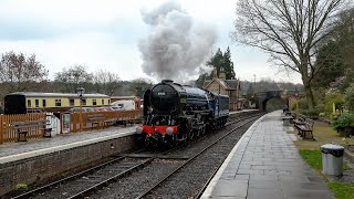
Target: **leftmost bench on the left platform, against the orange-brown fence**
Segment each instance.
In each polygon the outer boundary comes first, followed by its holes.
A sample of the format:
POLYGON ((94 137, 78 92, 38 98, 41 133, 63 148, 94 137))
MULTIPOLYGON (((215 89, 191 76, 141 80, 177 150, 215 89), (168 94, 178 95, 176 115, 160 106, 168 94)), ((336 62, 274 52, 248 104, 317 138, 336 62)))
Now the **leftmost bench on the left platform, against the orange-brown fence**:
POLYGON ((43 137, 52 137, 52 128, 48 128, 49 121, 24 121, 12 123, 13 129, 18 133, 18 142, 27 142, 27 135, 38 129, 43 130, 43 137))

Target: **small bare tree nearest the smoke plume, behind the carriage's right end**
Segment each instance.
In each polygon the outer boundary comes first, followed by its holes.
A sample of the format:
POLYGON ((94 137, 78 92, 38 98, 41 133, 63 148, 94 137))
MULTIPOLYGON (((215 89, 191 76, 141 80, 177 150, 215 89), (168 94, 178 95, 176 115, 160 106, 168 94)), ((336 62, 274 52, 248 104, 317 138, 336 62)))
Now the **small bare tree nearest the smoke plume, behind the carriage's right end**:
POLYGON ((93 75, 93 84, 97 93, 112 96, 119 87, 119 76, 108 71, 96 71, 93 75))

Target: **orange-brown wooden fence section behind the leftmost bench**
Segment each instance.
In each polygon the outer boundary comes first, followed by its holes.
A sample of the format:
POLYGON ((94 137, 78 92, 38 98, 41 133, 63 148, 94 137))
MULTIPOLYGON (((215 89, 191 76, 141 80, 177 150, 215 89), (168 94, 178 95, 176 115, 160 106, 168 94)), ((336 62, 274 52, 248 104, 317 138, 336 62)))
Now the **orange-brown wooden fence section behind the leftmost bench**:
MULTIPOLYGON (((45 114, 0 115, 0 144, 18 140, 18 130, 13 129, 14 122, 45 119, 45 114)), ((24 129, 27 130, 27 129, 24 129)), ((31 127, 27 138, 39 138, 43 136, 43 129, 31 127)))

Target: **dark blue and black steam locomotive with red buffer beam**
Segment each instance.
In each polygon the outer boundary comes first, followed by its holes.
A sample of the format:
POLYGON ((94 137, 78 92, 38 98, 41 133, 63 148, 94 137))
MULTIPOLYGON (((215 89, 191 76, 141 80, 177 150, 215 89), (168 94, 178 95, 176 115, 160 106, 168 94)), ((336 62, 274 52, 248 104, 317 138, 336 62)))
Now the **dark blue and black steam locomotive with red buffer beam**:
POLYGON ((136 128, 146 145, 174 145, 221 127, 229 96, 164 80, 144 94, 144 125, 136 128))

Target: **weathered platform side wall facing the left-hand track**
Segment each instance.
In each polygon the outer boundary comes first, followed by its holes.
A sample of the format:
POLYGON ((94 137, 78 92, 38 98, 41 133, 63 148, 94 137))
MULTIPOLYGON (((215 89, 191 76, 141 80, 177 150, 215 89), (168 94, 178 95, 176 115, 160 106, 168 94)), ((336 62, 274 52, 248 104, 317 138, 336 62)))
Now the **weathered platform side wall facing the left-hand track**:
POLYGON ((14 190, 18 184, 43 182, 102 158, 137 148, 135 140, 131 135, 0 165, 0 196, 14 190))

